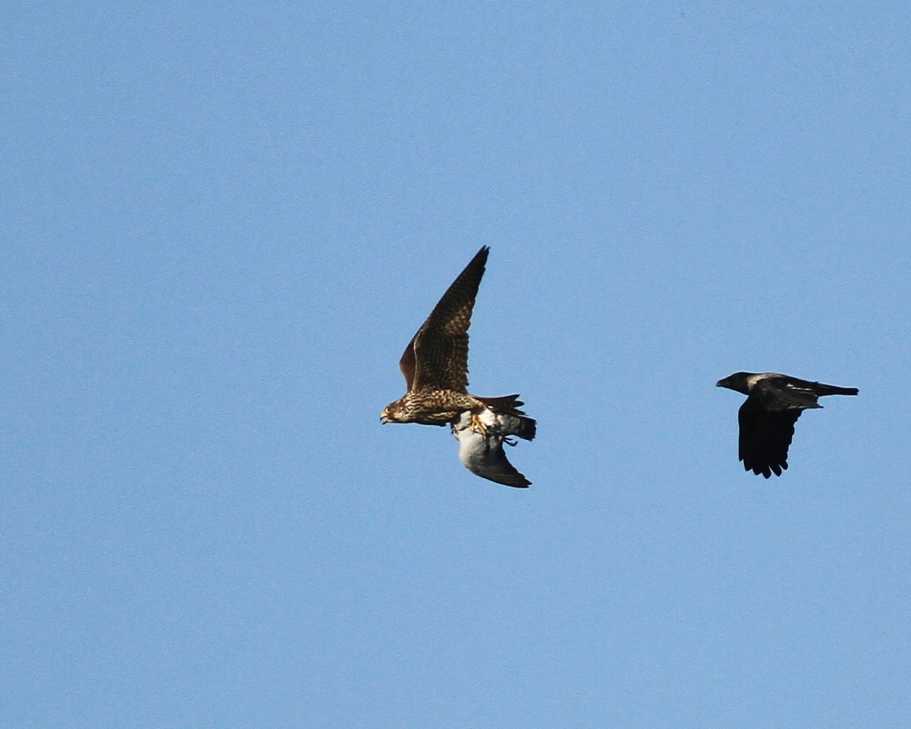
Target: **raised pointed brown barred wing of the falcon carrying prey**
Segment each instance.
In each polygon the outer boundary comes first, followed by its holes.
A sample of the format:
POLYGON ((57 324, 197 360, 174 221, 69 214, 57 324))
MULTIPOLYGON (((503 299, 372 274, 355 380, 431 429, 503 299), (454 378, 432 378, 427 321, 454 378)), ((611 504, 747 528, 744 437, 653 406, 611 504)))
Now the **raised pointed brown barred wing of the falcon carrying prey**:
POLYGON ((468 327, 489 251, 476 253, 405 347, 399 368, 409 392, 467 392, 468 327))

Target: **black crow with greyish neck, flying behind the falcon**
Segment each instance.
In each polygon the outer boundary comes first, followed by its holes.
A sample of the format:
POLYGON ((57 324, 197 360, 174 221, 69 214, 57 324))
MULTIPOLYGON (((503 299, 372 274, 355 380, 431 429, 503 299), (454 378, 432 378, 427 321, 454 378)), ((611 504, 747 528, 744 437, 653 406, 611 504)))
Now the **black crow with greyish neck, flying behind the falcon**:
POLYGON ((743 468, 759 476, 781 476, 788 467, 794 423, 804 410, 822 407, 823 395, 857 395, 856 387, 809 382, 775 372, 735 372, 715 383, 746 395, 737 413, 743 468))

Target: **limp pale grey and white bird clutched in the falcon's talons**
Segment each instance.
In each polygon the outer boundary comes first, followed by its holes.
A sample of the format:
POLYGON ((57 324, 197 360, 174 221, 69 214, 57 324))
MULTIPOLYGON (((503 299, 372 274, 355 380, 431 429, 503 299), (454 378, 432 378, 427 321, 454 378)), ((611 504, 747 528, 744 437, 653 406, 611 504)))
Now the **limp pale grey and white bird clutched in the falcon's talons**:
POLYGON ((484 423, 484 433, 473 426, 469 410, 452 422, 453 436, 458 440, 458 457, 462 465, 477 476, 496 481, 498 484, 528 488, 531 481, 509 463, 503 444, 516 445, 516 441, 509 436, 530 440, 535 435, 535 421, 528 417, 499 415, 489 408, 477 417, 484 423))

